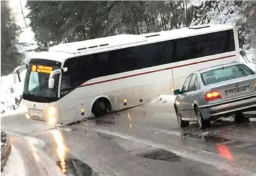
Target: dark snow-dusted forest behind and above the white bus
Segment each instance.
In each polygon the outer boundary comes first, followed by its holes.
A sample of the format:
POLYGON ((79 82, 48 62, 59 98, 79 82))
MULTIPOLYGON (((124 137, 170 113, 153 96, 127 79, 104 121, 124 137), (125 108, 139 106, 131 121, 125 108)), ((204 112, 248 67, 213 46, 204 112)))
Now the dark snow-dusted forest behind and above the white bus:
MULTIPOLYGON (((141 34, 197 24, 239 27, 241 48, 256 48, 256 1, 27 1, 27 18, 38 45, 141 34)), ((22 59, 15 43, 20 28, 8 1, 1 1, 1 75, 22 59)))

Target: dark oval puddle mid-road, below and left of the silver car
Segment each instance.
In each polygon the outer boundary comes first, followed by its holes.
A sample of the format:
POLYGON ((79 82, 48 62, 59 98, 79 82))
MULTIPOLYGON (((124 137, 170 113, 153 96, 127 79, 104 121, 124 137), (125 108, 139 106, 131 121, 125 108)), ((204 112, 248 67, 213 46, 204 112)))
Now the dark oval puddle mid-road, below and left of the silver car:
POLYGON ((151 150, 150 152, 138 154, 137 156, 144 157, 147 159, 170 161, 170 162, 179 161, 179 159, 181 158, 180 156, 177 156, 176 154, 164 149, 151 150))

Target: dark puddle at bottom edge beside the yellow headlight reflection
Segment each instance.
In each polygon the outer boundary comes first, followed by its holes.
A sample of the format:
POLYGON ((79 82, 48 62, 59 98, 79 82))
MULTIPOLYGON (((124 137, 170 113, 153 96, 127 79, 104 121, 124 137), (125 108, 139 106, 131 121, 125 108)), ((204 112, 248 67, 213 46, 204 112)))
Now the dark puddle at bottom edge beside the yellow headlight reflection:
MULTIPOLYGON (((57 161, 57 165, 63 170, 63 161, 57 161)), ((91 176, 92 169, 89 165, 79 159, 66 159, 64 161, 65 170, 63 173, 67 176, 91 176)))

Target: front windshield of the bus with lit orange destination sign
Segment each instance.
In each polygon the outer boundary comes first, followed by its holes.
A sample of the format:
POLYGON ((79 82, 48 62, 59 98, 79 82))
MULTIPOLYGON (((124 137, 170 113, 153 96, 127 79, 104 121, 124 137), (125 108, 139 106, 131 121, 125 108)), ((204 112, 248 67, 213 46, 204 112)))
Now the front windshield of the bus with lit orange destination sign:
POLYGON ((49 89, 50 73, 61 68, 61 62, 31 59, 27 68, 23 98, 29 101, 49 103, 57 100, 59 75, 54 76, 54 88, 49 89))

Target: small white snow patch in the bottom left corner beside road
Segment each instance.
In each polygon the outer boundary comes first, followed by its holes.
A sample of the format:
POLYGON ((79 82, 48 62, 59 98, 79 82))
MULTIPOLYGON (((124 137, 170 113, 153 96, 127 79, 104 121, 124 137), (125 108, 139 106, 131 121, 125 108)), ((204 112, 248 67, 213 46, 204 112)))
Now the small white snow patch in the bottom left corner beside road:
POLYGON ((19 151, 12 145, 11 154, 8 158, 6 166, 1 173, 3 176, 25 176, 26 170, 24 167, 24 162, 22 157, 19 154, 19 151), (15 166, 15 168, 13 168, 15 166))

